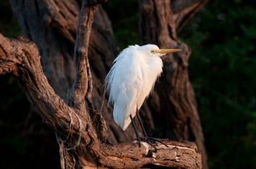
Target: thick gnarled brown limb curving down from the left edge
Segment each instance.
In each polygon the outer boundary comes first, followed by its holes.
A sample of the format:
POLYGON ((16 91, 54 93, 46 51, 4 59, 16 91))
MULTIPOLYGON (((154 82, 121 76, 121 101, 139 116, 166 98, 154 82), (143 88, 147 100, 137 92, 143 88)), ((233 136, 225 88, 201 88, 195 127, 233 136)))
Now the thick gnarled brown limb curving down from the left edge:
MULTIPOLYGON (((41 67, 36 45, 23 37, 15 40, 0 35, 0 48, 1 74, 12 73, 15 75, 18 84, 36 112, 43 118, 44 123, 63 136, 62 138, 67 139, 70 132, 73 134, 72 138, 70 137, 66 142, 63 142, 65 143, 65 147, 62 147, 64 154, 70 152, 68 149, 75 147, 80 136, 82 140, 77 151, 91 152, 86 157, 90 157, 91 154, 96 157, 103 156, 102 151, 94 152, 91 150, 95 149, 94 147, 99 149, 100 146, 91 118, 88 113, 81 113, 86 110, 70 108, 54 93, 49 85, 41 67), (83 116, 78 114, 83 114, 83 116)), ((64 157, 69 159, 67 156, 64 157)), ((80 158, 70 157, 70 159, 76 160, 80 158)), ((91 157, 91 159, 94 158, 91 157)), ((90 161, 91 163, 98 163, 95 160, 90 161)))

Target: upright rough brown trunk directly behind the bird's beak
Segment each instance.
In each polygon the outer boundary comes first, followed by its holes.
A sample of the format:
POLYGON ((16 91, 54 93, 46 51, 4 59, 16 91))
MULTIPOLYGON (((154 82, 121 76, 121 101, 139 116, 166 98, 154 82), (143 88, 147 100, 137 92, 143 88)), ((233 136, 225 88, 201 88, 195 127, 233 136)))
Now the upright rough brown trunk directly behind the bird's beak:
MULTIPOLYGON (((174 1, 178 6, 181 1, 174 1)), ((197 1, 203 4, 205 1, 197 1)), ((163 137, 171 140, 189 140, 195 142, 202 153, 203 168, 207 168, 207 154, 205 150, 204 136, 197 111, 197 100, 194 90, 189 82, 189 56, 191 49, 185 43, 178 40, 177 27, 181 27, 177 16, 184 17, 183 12, 193 12, 193 6, 181 6, 176 9, 176 15, 170 9, 170 1, 141 0, 140 27, 144 44, 157 44, 160 48, 180 48, 183 51, 168 54, 162 57, 163 72, 160 82, 156 84, 157 93, 153 95, 160 98, 160 113, 163 121, 163 137), (183 9, 182 9, 183 8, 183 9), (176 25, 178 24, 178 26, 176 25)), ((197 8, 197 6, 194 6, 197 8)))

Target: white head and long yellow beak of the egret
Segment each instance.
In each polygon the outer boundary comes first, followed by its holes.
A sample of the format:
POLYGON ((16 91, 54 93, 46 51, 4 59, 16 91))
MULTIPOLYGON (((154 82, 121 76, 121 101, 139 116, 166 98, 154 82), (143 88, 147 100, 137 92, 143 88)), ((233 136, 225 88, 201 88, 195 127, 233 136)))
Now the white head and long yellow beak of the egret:
POLYGON ((138 51, 144 53, 147 57, 160 57, 167 53, 182 51, 181 49, 160 49, 157 45, 142 45, 137 48, 138 51))

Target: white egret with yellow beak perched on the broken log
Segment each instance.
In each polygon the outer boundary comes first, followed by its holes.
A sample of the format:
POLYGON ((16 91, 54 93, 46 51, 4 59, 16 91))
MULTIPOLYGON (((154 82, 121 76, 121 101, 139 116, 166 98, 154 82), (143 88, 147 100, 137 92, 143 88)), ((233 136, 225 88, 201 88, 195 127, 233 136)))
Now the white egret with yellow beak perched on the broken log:
POLYGON ((149 140, 139 116, 139 109, 146 97, 154 89, 157 77, 162 73, 162 59, 166 53, 181 49, 160 49, 157 45, 128 45, 113 61, 113 66, 105 78, 106 91, 109 92, 108 105, 113 105, 113 117, 123 131, 132 123, 136 139, 149 140), (139 137, 134 124, 138 116, 144 138, 139 137))

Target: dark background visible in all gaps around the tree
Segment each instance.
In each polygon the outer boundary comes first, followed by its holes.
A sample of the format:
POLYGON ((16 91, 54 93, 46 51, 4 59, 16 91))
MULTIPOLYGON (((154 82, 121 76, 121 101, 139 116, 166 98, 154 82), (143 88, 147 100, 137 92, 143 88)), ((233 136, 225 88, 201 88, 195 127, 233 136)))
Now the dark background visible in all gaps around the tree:
MULTIPOLYGON (((112 20, 120 50, 141 44, 136 0, 110 0, 104 9, 112 20)), ((255 23, 256 7, 250 1, 215 0, 178 33, 192 49, 189 76, 212 169, 256 168, 255 23)), ((0 32, 7 37, 22 34, 4 0, 0 1, 0 32)), ((28 115, 29 108, 14 79, 1 76, 0 168, 59 168, 54 133, 45 129, 36 113, 28 115), (25 125, 28 116, 30 122, 25 125), (34 133, 28 133, 31 125, 34 133), (47 161, 56 164, 51 166, 47 161)))

